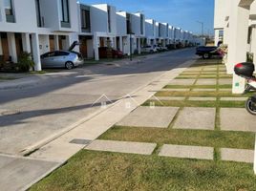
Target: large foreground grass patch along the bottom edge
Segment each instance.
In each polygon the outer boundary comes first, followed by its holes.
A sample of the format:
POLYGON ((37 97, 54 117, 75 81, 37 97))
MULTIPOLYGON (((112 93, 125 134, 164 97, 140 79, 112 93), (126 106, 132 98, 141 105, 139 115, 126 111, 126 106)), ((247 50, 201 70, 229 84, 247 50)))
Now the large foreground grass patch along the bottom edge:
POLYGON ((252 165, 81 151, 32 191, 255 191, 252 165))

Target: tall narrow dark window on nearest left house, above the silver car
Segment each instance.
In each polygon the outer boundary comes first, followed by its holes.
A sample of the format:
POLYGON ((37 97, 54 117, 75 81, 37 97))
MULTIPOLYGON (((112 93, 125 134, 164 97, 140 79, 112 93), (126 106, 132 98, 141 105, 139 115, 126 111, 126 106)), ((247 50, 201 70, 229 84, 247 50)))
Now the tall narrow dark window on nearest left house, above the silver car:
POLYGON ((69 0, 59 0, 59 13, 61 27, 70 28, 69 0))

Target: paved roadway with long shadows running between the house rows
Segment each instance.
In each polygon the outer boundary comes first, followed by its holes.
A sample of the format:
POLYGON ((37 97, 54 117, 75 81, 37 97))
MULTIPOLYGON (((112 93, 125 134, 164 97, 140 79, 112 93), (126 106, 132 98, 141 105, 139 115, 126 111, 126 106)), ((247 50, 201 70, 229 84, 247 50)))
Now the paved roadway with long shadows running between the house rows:
POLYGON ((0 153, 21 155, 33 143, 95 113, 102 103, 115 102, 194 59, 194 53, 194 49, 185 49, 136 62, 45 74, 46 79, 35 86, 0 90, 0 153))

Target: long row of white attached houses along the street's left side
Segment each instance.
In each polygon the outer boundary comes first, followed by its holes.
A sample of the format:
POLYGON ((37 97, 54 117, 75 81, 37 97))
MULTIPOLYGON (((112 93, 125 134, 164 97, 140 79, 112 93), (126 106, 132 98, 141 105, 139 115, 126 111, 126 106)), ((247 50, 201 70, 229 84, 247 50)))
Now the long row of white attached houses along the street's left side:
POLYGON ((99 59, 99 47, 112 47, 125 54, 141 52, 145 45, 183 45, 193 42, 191 32, 167 23, 145 19, 142 13, 117 11, 115 7, 85 5, 77 0, 0 0, 0 55, 17 62, 22 52, 32 53, 35 70, 40 55, 67 50, 99 59))

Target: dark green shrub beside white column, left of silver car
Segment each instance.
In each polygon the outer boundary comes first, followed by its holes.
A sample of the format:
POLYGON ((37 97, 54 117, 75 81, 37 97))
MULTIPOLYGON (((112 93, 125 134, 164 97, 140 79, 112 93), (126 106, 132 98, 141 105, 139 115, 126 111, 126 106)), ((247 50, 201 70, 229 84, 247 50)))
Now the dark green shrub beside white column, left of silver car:
POLYGON ((18 66, 20 72, 29 72, 30 69, 34 66, 31 53, 21 53, 18 57, 18 66))

